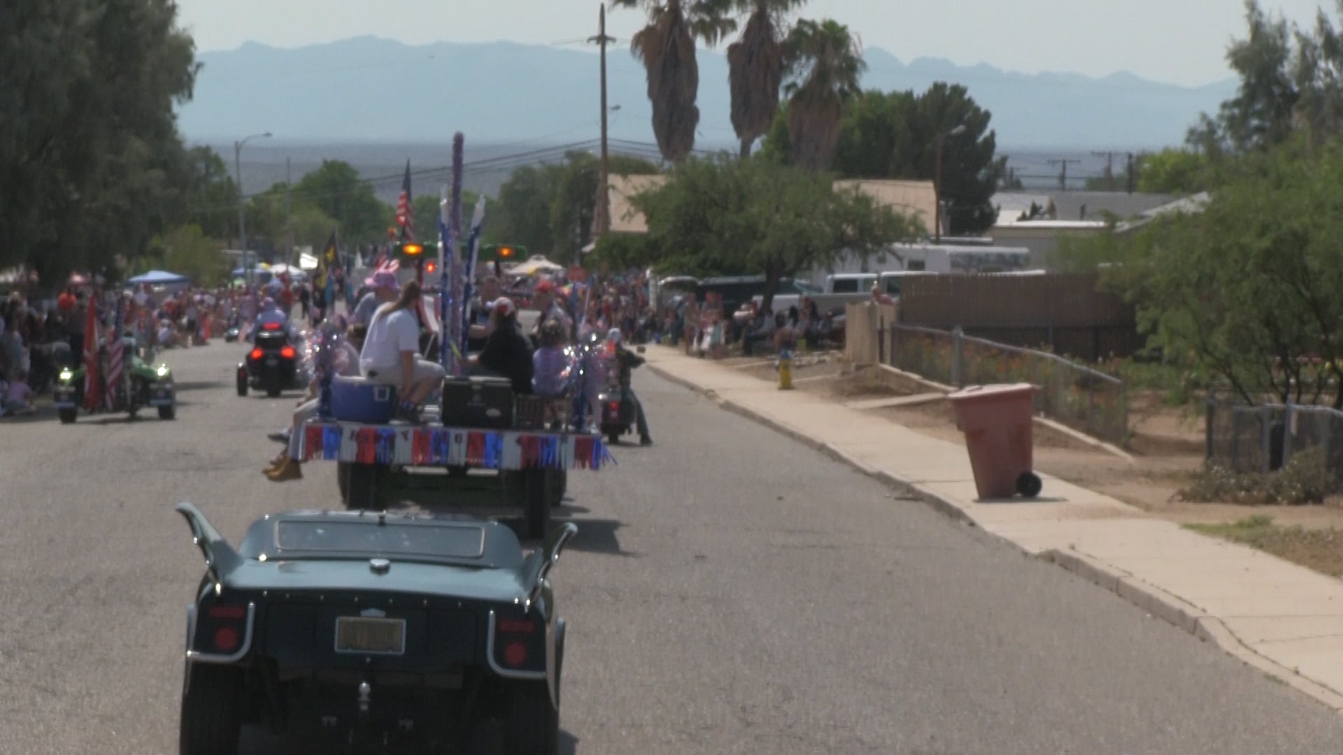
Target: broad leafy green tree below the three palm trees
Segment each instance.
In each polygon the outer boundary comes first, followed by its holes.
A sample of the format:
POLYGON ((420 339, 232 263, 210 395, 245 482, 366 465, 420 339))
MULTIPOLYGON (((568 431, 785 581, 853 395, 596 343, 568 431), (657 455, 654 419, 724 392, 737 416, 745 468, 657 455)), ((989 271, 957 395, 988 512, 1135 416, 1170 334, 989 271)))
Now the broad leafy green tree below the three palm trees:
POLYGON ((665 266, 693 274, 764 274, 764 304, 779 281, 849 251, 873 255, 920 232, 917 222, 833 176, 759 157, 692 159, 663 187, 633 197, 665 266))

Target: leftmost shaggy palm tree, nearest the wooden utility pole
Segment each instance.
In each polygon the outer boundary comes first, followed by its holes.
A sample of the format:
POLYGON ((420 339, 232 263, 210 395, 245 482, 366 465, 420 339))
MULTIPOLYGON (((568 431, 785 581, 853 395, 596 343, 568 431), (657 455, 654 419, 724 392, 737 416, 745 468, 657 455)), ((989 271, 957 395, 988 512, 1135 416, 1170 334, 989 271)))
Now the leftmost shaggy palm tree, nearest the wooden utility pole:
POLYGON ((630 40, 630 50, 649 73, 653 134, 662 157, 680 161, 694 146, 700 109, 700 66, 694 40, 717 44, 737 28, 728 16, 733 0, 611 0, 614 8, 643 7, 649 26, 630 40))

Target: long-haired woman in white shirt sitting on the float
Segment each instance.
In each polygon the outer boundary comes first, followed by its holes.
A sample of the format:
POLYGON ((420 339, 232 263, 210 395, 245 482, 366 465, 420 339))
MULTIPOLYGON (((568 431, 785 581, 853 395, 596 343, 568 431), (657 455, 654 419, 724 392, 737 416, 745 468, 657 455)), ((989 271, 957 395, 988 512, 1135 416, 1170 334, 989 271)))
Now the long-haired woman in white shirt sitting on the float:
POLYGON ((419 407, 443 383, 443 365, 419 355, 419 320, 415 310, 420 285, 406 283, 396 301, 373 313, 368 337, 359 355, 359 368, 365 378, 395 386, 402 398, 403 419, 419 420, 419 407))

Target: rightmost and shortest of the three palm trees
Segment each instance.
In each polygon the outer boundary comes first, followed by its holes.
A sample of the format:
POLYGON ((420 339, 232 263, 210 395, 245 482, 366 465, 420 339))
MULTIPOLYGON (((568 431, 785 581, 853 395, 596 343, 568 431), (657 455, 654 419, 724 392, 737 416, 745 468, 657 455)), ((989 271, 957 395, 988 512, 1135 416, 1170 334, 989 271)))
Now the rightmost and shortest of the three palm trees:
POLYGON ((823 171, 834 159, 843 105, 858 94, 858 77, 868 67, 862 46, 838 21, 800 20, 784 42, 783 59, 792 163, 823 171))

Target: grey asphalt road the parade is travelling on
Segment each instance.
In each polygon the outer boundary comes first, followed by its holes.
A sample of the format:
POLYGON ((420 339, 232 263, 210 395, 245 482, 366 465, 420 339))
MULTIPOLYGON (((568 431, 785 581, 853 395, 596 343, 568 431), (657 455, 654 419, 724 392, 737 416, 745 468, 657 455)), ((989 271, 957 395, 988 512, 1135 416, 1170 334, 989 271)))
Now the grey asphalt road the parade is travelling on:
MULTIPOLYGON (((201 564, 338 505, 334 465, 259 474, 293 398, 169 352, 179 418, 0 420, 0 752, 176 747, 201 564)), ((1338 752, 1343 720, 1061 570, 637 375, 658 445, 572 476, 553 574, 572 752, 1338 752)), ((265 739, 248 751, 285 751, 265 739)))

